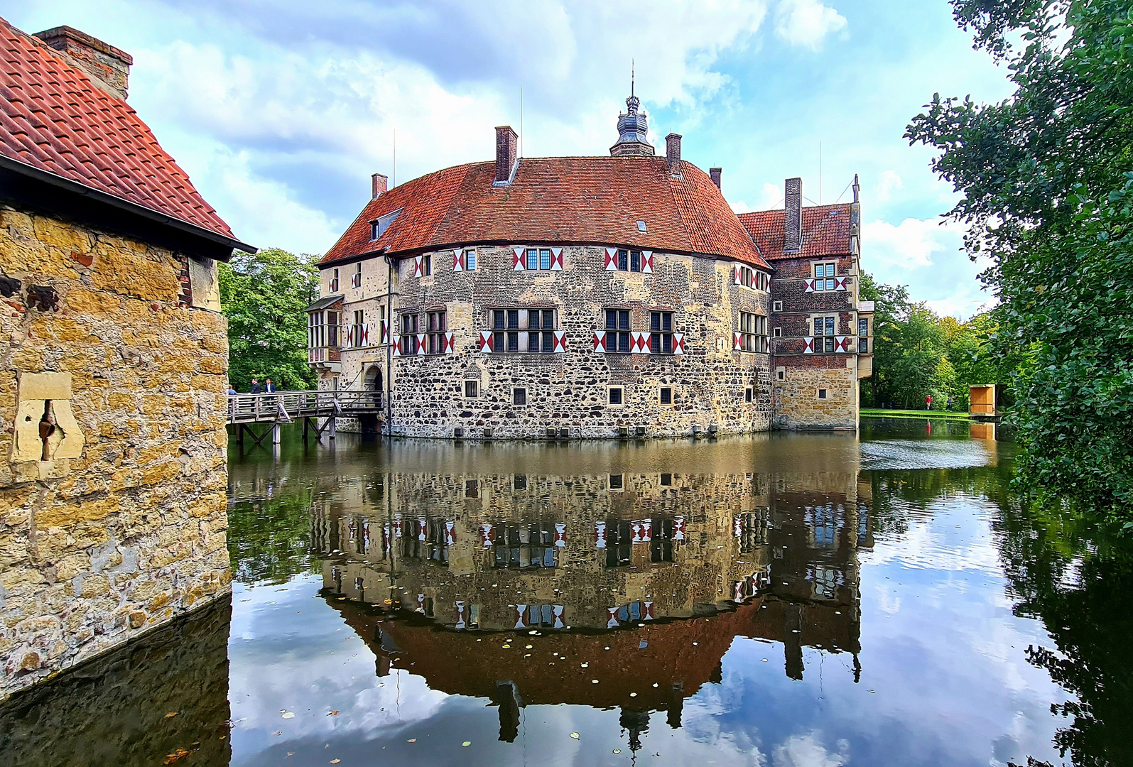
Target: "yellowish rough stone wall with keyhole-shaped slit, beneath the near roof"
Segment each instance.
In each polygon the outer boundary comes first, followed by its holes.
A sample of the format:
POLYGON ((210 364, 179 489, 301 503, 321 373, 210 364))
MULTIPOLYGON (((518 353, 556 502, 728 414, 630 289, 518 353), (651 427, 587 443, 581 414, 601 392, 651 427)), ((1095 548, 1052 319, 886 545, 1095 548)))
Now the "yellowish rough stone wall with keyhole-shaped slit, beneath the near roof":
POLYGON ((0 206, 0 697, 229 588, 227 326, 185 264, 0 206))

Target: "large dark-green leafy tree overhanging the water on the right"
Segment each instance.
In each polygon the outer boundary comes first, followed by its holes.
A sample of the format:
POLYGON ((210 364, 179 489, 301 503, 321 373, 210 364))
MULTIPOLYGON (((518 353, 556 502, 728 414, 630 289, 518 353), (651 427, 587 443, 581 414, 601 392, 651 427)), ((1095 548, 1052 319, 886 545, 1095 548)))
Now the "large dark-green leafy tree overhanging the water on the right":
POLYGON ((990 342, 1019 360, 1019 481, 1130 520, 1133 9, 952 5, 976 46, 1007 61, 1015 93, 995 104, 937 94, 906 137, 940 151, 934 169, 963 194, 949 215, 991 261, 990 342))

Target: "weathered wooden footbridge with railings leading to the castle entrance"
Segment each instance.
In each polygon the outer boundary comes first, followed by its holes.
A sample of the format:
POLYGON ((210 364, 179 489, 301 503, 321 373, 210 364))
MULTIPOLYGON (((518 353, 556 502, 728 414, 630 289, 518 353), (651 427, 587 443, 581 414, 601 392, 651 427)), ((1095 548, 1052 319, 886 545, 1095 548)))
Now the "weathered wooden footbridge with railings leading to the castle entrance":
POLYGON ((315 433, 316 438, 322 438, 326 432, 333 440, 337 419, 377 419, 382 416, 383 407, 383 393, 375 391, 308 390, 271 394, 229 394, 228 423, 236 427, 236 441, 241 445, 245 435, 257 445, 271 435, 272 443, 279 444, 280 426, 295 420, 303 420, 304 442, 310 432, 315 433), (266 428, 257 435, 254 424, 263 424, 266 428))

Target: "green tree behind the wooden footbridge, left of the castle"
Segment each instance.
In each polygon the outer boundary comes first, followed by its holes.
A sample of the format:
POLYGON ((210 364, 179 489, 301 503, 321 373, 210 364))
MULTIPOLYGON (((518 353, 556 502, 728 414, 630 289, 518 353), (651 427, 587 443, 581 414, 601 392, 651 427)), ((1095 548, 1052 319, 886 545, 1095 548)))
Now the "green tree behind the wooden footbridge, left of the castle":
POLYGON ((271 378, 280 391, 310 389, 307 315, 318 291, 316 257, 269 248, 220 265, 220 301, 228 317, 229 380, 248 391, 271 378))

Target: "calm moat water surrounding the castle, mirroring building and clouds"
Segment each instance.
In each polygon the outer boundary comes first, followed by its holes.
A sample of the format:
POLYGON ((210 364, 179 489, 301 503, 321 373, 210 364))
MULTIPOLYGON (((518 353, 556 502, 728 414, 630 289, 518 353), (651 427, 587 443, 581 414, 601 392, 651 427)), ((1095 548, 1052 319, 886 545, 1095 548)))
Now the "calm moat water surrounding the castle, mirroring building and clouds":
POLYGON ((1133 547, 995 436, 233 445, 231 599, 0 707, 0 764, 1133 764, 1133 547))

